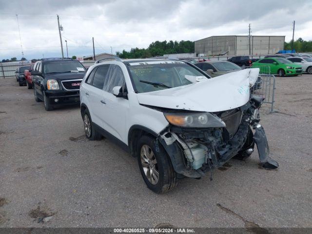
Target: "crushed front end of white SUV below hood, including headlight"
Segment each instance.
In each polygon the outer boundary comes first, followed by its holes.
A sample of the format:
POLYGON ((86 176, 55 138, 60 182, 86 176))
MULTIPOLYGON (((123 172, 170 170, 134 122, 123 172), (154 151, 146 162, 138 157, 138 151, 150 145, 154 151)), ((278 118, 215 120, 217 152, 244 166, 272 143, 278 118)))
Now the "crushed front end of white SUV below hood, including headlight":
POLYGON ((246 158, 257 145, 260 162, 267 169, 278 167, 269 157, 269 146, 259 124, 263 98, 251 96, 245 105, 215 113, 165 113, 169 126, 157 138, 170 156, 175 171, 202 177, 236 156, 246 158), (253 131, 254 130, 254 131, 253 131))

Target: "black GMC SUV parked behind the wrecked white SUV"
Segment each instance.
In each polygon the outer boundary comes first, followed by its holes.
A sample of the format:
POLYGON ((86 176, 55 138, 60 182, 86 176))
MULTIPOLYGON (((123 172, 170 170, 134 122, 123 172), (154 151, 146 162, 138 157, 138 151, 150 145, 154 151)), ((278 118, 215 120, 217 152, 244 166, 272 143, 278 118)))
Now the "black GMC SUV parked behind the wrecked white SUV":
POLYGON ((34 65, 33 79, 36 101, 44 101, 44 109, 79 103, 80 82, 85 67, 73 59, 42 59, 34 65))

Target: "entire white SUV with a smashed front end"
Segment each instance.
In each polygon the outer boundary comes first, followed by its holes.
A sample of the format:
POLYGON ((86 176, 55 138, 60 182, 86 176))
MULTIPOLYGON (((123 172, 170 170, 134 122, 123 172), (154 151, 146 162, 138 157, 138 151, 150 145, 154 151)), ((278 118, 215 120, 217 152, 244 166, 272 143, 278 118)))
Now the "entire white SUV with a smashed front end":
POLYGON ((210 78, 181 60, 97 61, 80 85, 86 137, 111 138, 137 157, 156 193, 250 156, 254 143, 263 167, 277 168, 259 124, 263 98, 250 93, 258 74, 255 68, 210 78))

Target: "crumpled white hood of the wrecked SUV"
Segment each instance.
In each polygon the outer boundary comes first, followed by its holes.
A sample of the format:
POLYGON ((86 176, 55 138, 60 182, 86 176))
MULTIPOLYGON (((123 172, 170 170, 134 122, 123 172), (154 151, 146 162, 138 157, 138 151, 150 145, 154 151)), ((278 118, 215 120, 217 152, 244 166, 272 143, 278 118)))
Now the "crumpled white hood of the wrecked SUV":
POLYGON ((243 106, 259 68, 244 69, 201 82, 137 94, 140 104, 177 110, 218 112, 243 106))

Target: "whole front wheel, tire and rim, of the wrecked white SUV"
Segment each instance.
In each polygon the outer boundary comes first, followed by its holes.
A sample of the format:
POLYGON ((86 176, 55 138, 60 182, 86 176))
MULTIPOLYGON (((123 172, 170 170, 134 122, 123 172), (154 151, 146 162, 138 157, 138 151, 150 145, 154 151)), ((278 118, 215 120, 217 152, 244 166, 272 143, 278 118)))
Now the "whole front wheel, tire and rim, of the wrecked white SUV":
POLYGON ((139 139, 137 162, 147 187, 162 194, 176 187, 177 174, 164 148, 159 143, 157 152, 155 143, 156 139, 151 136, 144 135, 139 139))

